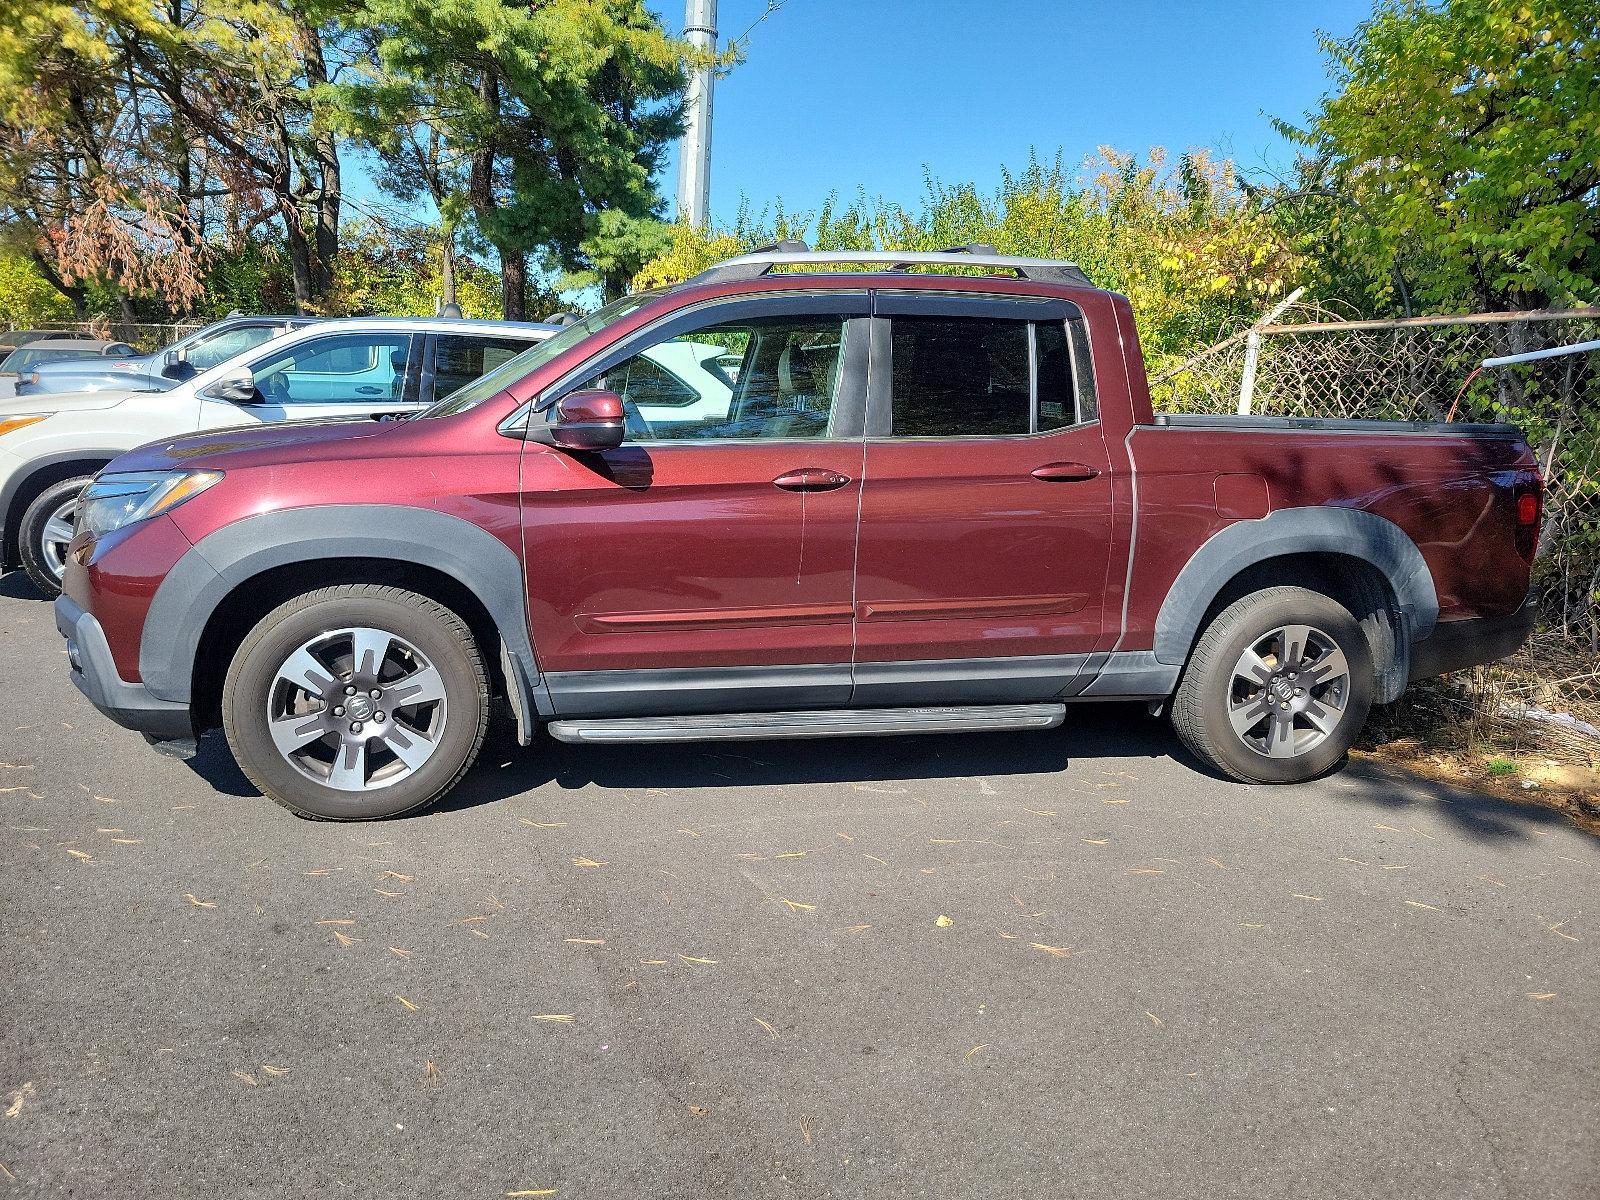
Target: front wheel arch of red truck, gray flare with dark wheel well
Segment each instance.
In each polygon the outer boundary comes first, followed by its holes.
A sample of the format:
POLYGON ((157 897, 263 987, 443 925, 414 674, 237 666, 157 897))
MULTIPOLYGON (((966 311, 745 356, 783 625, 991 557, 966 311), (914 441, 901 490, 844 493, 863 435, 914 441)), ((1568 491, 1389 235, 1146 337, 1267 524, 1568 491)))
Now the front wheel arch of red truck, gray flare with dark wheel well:
POLYGON ((486 530, 429 509, 317 506, 258 514, 202 538, 162 581, 146 614, 139 675, 162 699, 216 718, 243 635, 283 600, 330 582, 384 582, 456 611, 478 638, 523 739, 539 699, 520 558, 486 530))

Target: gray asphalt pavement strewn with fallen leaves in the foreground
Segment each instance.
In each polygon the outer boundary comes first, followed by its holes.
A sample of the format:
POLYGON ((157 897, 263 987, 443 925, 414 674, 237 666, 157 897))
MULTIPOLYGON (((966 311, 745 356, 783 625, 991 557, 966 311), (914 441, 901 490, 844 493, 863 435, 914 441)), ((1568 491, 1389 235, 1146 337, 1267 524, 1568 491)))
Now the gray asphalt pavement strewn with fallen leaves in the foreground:
POLYGON ((1357 762, 517 750, 314 824, 0 581, 0 1197, 1594 1197, 1600 846, 1357 762))

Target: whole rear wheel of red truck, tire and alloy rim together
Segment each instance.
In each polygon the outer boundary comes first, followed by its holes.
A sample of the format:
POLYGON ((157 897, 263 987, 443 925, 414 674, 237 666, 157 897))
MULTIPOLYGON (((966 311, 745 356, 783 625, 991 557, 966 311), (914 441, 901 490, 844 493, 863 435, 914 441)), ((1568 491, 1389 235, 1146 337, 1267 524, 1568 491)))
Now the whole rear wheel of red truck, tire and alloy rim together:
POLYGON ((1173 728, 1245 782, 1290 784, 1338 766, 1373 702, 1373 659, 1350 611, 1304 587, 1224 608, 1195 643, 1173 728))

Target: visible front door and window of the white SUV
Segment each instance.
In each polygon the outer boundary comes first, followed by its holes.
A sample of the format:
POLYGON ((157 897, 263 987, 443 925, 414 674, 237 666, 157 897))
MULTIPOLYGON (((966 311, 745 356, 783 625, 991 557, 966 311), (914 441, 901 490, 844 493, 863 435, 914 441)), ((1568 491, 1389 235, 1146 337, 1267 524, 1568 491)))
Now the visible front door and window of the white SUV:
POLYGON ((414 398, 414 344, 410 333, 373 330, 269 349, 248 365, 254 397, 242 403, 206 398, 202 427, 414 411, 421 408, 414 398))

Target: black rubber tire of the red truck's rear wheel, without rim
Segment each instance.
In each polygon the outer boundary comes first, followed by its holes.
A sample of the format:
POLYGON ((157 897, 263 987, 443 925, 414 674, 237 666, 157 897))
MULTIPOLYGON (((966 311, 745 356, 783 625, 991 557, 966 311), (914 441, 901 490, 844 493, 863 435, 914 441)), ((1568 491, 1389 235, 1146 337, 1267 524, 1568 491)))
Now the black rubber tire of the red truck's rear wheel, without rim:
MULTIPOLYGON (((1315 662, 1310 667, 1301 666, 1296 675, 1304 672, 1306 680, 1312 680, 1314 670, 1315 662)), ((1256 784, 1302 782, 1326 774, 1344 762, 1366 722, 1373 690, 1373 658, 1366 635, 1344 605, 1304 587, 1267 587, 1235 600, 1206 626, 1173 698, 1173 728, 1197 758, 1232 779, 1256 784), (1296 666, 1294 661, 1285 662, 1283 658, 1272 656, 1269 662, 1280 669, 1269 672, 1254 693, 1245 677, 1235 674, 1246 651, 1261 646, 1274 630, 1294 626, 1310 627, 1344 656, 1347 685, 1342 691, 1338 691, 1338 683, 1312 685, 1325 690, 1326 704, 1317 704, 1315 696, 1306 701, 1294 694, 1286 674, 1296 666), (1283 694, 1272 691, 1274 686, 1282 688, 1283 694), (1333 701, 1338 701, 1338 707, 1333 701), (1328 722, 1328 715, 1334 714, 1330 730, 1314 726, 1304 714, 1280 718, 1274 710, 1275 704, 1307 702, 1320 722, 1328 722), (1246 741, 1246 734, 1235 730, 1230 712, 1238 712, 1242 723, 1253 712, 1266 712, 1259 718, 1262 723, 1256 726, 1262 733, 1246 741), (1296 739, 1320 741, 1288 757, 1270 757, 1254 742, 1272 744, 1272 731, 1283 728, 1280 720, 1286 723, 1286 733, 1277 742, 1282 750, 1296 739)))

